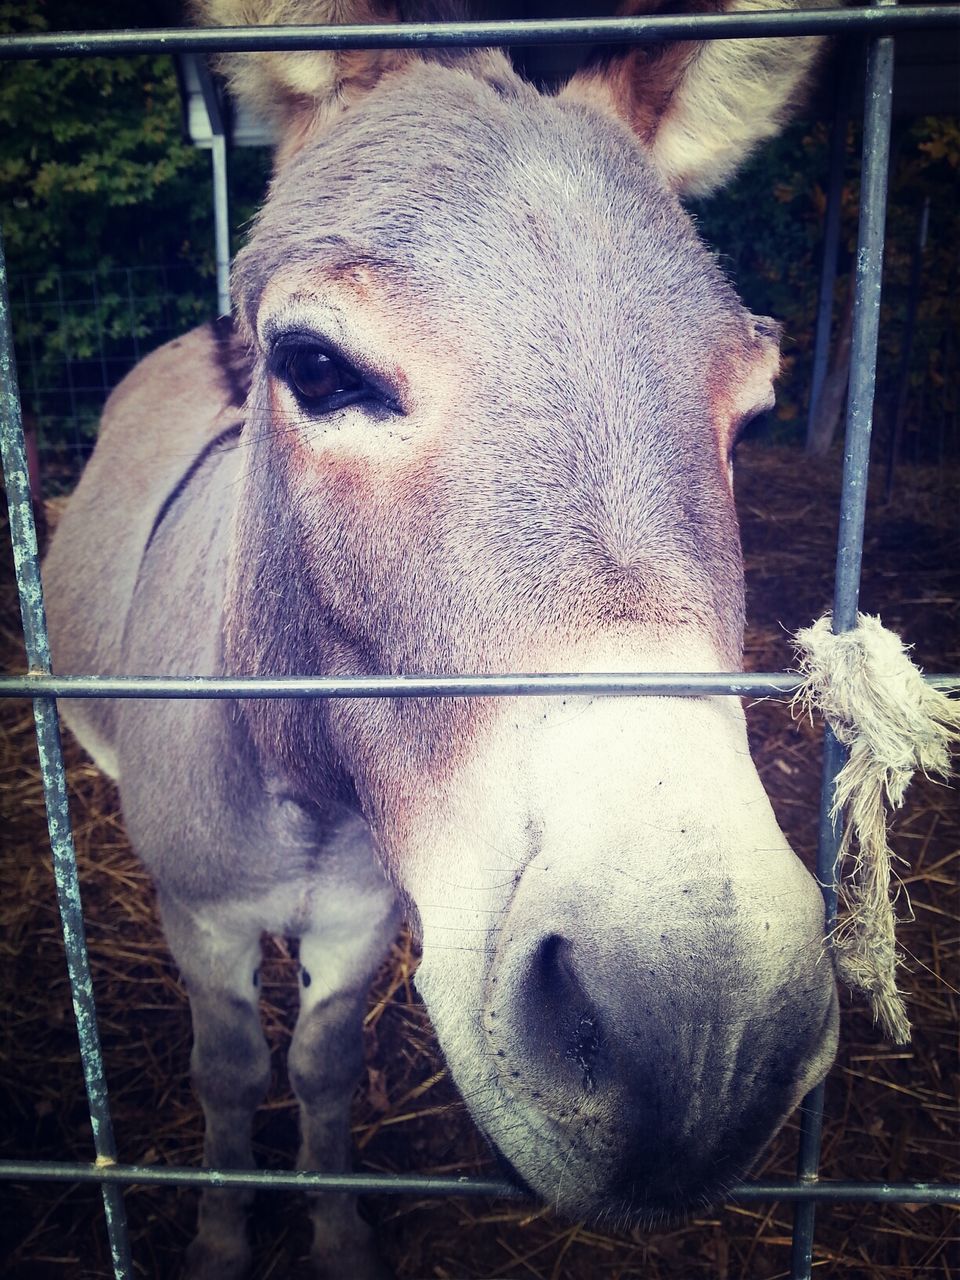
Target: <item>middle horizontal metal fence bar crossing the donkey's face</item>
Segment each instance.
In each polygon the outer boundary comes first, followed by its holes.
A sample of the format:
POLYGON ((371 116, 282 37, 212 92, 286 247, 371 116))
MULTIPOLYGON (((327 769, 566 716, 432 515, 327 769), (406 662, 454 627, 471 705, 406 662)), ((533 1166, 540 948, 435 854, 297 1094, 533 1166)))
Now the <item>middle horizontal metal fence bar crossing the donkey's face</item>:
MULTIPOLYGON (((960 692, 960 673, 925 676, 960 692)), ((557 698, 562 694, 768 698, 794 672, 568 672, 503 676, 3 676, 0 698, 557 698)))

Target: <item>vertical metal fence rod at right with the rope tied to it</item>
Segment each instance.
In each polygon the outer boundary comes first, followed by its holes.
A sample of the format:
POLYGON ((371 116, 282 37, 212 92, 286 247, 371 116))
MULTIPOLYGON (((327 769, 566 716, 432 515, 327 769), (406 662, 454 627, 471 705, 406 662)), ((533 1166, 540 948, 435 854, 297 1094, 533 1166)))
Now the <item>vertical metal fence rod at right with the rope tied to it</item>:
MULTIPOLYGON (((890 3, 890 0, 881 0, 890 3)), ((854 338, 850 357, 846 435, 844 440, 844 488, 840 503, 837 570, 833 586, 833 630, 856 626, 860 598, 860 564, 867 513, 867 477, 873 429, 873 398, 877 385, 877 343, 879 338, 881 283, 883 271, 883 229, 887 216, 887 178, 890 165, 890 125, 893 101, 893 40, 872 40, 867 50, 867 96, 863 128, 863 169, 860 174, 860 228, 854 276, 854 338)), ((837 851, 840 832, 829 819, 836 776, 844 764, 844 749, 826 731, 820 828, 817 874, 823 890, 826 927, 836 919, 837 851)), ((823 1124, 823 1085, 805 1101, 800 1128, 797 1176, 817 1180, 820 1130, 823 1124)), ((800 1202, 794 1215, 791 1258, 792 1280, 810 1280, 813 1267, 813 1201, 800 1202)))

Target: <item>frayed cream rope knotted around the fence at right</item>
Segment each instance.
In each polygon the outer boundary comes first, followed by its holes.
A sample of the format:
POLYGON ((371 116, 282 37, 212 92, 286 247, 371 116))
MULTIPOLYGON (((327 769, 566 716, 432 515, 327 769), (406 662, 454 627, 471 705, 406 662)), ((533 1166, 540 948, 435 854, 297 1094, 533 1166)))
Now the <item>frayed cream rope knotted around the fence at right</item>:
MULTIPOLYGON (((827 614, 796 632, 800 689, 794 708, 819 712, 847 749, 831 817, 844 817, 838 895, 841 919, 829 937, 837 975, 870 1001, 895 1044, 910 1039, 896 986, 893 854, 887 809, 899 809, 916 769, 950 777, 950 748, 960 740, 960 703, 931 687, 900 636, 879 618, 858 614, 852 631, 835 635, 827 614)), ((909 904, 908 904, 909 905, 909 904)))

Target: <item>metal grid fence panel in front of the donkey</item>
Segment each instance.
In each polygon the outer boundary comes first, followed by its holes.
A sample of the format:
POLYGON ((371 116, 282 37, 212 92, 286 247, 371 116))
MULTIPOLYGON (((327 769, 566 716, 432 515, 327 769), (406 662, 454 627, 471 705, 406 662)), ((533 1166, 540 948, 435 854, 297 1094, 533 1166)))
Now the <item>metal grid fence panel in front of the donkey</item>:
MULTIPOLYGON (((879 326, 879 285, 883 256, 883 220, 887 196, 887 161, 890 145, 890 102, 893 81, 893 40, 891 33, 899 27, 914 26, 948 26, 960 18, 957 6, 915 5, 892 9, 887 5, 878 5, 874 9, 861 10, 836 10, 817 13, 794 14, 737 14, 730 18, 714 17, 676 17, 668 15, 653 19, 617 19, 608 23, 582 23, 582 22, 553 22, 553 23, 485 23, 463 24, 447 23, 435 24, 429 28, 298 28, 293 31, 261 29, 243 33, 209 33, 209 32, 166 32, 166 33, 104 33, 97 38, 84 38, 81 36, 50 36, 50 37, 23 37, 19 40, 0 40, 0 55, 6 56, 38 56, 40 54, 84 56, 91 52, 123 52, 133 49, 279 49, 279 47, 375 47, 399 45, 489 45, 489 44, 525 44, 536 41, 584 41, 584 40, 611 40, 622 38, 627 41, 643 41, 655 38, 726 38, 731 36, 759 36, 759 35, 796 35, 804 32, 827 32, 835 29, 858 29, 869 33, 868 44, 868 70, 867 70, 867 106, 863 141, 863 196, 861 218, 858 244, 856 269, 856 306, 854 315, 852 334, 852 361, 851 361, 851 389, 847 407, 846 422, 846 452, 844 470, 844 490, 841 500, 841 530, 837 549, 837 576, 835 593, 835 627, 837 630, 850 630, 856 622, 856 608, 860 580, 860 562, 863 556, 863 525, 865 483, 869 461, 869 443, 873 415, 873 399, 876 388, 876 360, 879 326)), ((0 260, 0 270, 3 261, 0 260)), ((125 1183, 137 1181, 170 1181, 178 1184, 188 1183, 216 1183, 218 1185, 250 1184, 257 1187, 276 1188, 305 1187, 325 1188, 329 1190, 379 1190, 389 1193, 413 1194, 516 1194, 509 1184, 495 1180, 467 1180, 451 1178, 431 1179, 402 1179, 381 1178, 374 1175, 320 1175, 320 1174, 289 1174, 271 1175, 268 1172, 237 1172, 221 1170, 156 1170, 136 1166, 123 1166, 118 1164, 116 1151, 111 1134, 110 1111, 106 1098, 106 1085, 104 1079, 102 1057, 97 1036, 96 1011, 93 1004, 93 991, 90 979, 86 945, 83 940, 83 919, 79 901, 79 886, 77 879, 76 855, 73 849, 69 813, 67 805, 65 776, 63 756, 60 750, 59 728, 54 696, 90 696, 96 695, 140 695, 140 696, 211 696, 214 692, 220 696, 257 698, 280 696, 292 690, 273 682, 274 687, 264 689, 262 684, 255 681, 229 681, 223 687, 214 690, 202 682, 193 681, 192 687, 180 682, 174 685, 145 677, 143 680, 131 678, 125 687, 118 682, 110 686, 91 686, 88 677, 61 677, 56 681, 51 677, 50 653, 46 636, 46 622, 44 616, 42 595, 40 589, 40 567, 37 557, 36 532, 29 504, 29 481, 27 472, 27 458, 24 438, 20 421, 20 407, 17 390, 15 366, 13 357, 13 342, 10 330, 10 302, 6 297, 5 271, 0 280, 0 406, 3 408, 1 439, 4 475, 10 506, 10 525, 17 561, 18 586, 20 593, 20 605, 23 613, 24 639, 31 675, 23 680, 6 678, 0 684, 0 695, 5 696, 33 696, 35 716, 37 724, 37 742, 40 750, 41 772, 44 780, 45 799, 47 805, 47 819, 54 860, 56 867, 58 895, 64 925, 64 940, 67 946, 68 965, 70 969, 70 986, 74 997, 74 1011, 77 1015, 78 1034, 81 1039, 81 1052, 83 1070, 90 1100, 91 1121, 97 1158, 93 1164, 64 1165, 64 1164, 38 1164, 24 1161, 0 1162, 0 1175, 18 1179, 49 1179, 49 1180, 93 1180, 102 1188, 104 1204, 106 1211, 108 1230, 111 1240, 111 1253, 114 1271, 118 1280, 125 1280, 133 1275, 129 1245, 127 1242, 123 1201, 120 1188, 125 1183)), ((27 367, 26 378, 26 403, 28 411, 40 419, 44 410, 44 396, 65 396, 70 404, 70 397, 77 397, 81 389, 95 394, 102 390, 111 375, 111 361, 136 358, 137 351, 137 320, 136 306, 131 296, 132 276, 123 276, 115 282, 115 288, 109 294, 110 307, 119 317, 124 307, 128 311, 128 329, 123 332, 120 326, 111 337, 123 344, 128 343, 129 349, 123 356, 108 356, 108 333, 102 324, 97 330, 87 335, 86 344, 77 348, 83 352, 79 365, 84 367, 83 378, 88 381, 79 381, 81 370, 74 367, 72 358, 73 347, 64 351, 65 365, 69 376, 64 374, 65 387, 49 387, 46 376, 38 366, 27 367), (131 287, 124 293, 123 283, 131 287), (74 379, 76 374, 76 379, 74 379), (72 381, 72 379, 74 379, 72 381), (31 380, 33 383, 31 390, 31 380), (29 396, 36 397, 31 402, 29 396), (33 408, 29 406, 33 404, 33 408)), ((96 294, 92 282, 90 297, 102 302, 102 297, 96 294)), ((45 287, 46 288, 46 287, 45 287)), ((61 285, 58 285, 61 291, 61 285)), ((78 285, 78 288, 83 288, 78 285)), ((55 300, 44 300, 45 289, 38 293, 24 292, 22 305, 32 307, 29 321, 35 325, 44 323, 46 307, 59 308, 65 306, 63 292, 55 300)), ((165 287, 151 296, 157 306, 165 306, 168 293, 165 287)), ((14 303, 15 305, 15 303, 14 303)), ((152 305, 152 303, 151 303, 152 305)), ((173 305, 173 303, 170 303, 173 305)), ((118 320, 119 324, 119 320, 118 320)), ((64 403, 59 401, 56 403, 64 403)), ((52 412, 52 410, 46 410, 52 412)), ((82 435, 82 433, 81 433, 82 435)), ((78 449, 82 440, 76 442, 78 449)), ((703 685, 698 680, 703 677, 692 676, 689 680, 682 677, 663 677, 655 675, 635 676, 630 678, 630 689, 622 686, 603 690, 605 692, 630 691, 636 695, 666 691, 676 695, 684 692, 703 691, 703 685)), ((726 677, 709 677, 710 691, 730 695, 739 695, 746 687, 764 687, 767 690, 785 687, 783 682, 790 677, 782 673, 767 673, 754 680, 754 686, 745 682, 742 676, 730 673, 726 677)), ((483 682, 470 687, 470 682, 463 677, 453 677, 451 690, 440 687, 434 682, 434 687, 420 689, 419 695, 438 696, 444 692, 453 692, 458 696, 484 696, 497 692, 503 696, 512 696, 534 691, 529 687, 535 677, 517 676, 506 677, 506 682, 499 689, 484 686, 483 682)), ((941 682, 952 684, 952 677, 941 677, 941 682)), ((189 684, 189 682, 188 682, 189 684)), ((442 682, 440 682, 442 684, 442 682)), ((572 675, 561 677, 561 685, 553 692, 584 691, 594 689, 596 680, 585 676, 572 675)), ((353 681, 323 681, 303 680, 297 682, 298 696, 397 696, 404 691, 403 680, 378 681, 376 678, 353 681)), ((538 690, 540 691, 540 690, 538 690)), ((836 856, 837 856, 837 831, 829 819, 829 805, 833 791, 833 781, 842 764, 842 753, 836 740, 828 735, 823 795, 820 806, 820 844, 818 851, 818 876, 824 888, 827 901, 827 927, 829 928, 836 911, 836 856)), ((808 1280, 813 1266, 813 1236, 814 1236, 814 1207, 823 1199, 874 1199, 874 1201, 909 1201, 909 1202, 947 1202, 960 1203, 960 1188, 952 1185, 933 1184, 905 1184, 905 1185, 867 1185, 860 1183, 820 1183, 817 1178, 820 1146, 820 1126, 823 1116, 823 1087, 819 1087, 808 1097, 801 1126, 799 1176, 796 1181, 788 1184, 753 1184, 739 1192, 744 1199, 782 1198, 795 1201, 796 1219, 792 1243, 791 1276, 795 1280, 808 1280)))

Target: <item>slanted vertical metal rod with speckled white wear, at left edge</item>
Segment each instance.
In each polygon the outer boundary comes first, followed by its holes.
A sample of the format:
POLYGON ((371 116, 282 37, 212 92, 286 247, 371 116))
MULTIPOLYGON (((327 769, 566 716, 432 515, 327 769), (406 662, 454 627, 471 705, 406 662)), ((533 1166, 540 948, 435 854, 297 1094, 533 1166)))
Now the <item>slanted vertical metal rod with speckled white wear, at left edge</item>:
MULTIPOLYGON (((23 617, 23 637, 29 671, 40 675, 50 672, 50 644, 46 631, 46 613, 40 585, 40 554, 37 531, 31 506, 27 452, 23 440, 20 397, 17 387, 17 366, 10 324, 10 302, 6 291, 6 262, 0 242, 0 453, 3 453, 4 484, 10 513, 10 536, 17 570, 17 589, 23 617)), ((54 878, 63 924, 67 970, 70 978, 73 1014, 77 1020, 83 1080, 87 1088, 90 1121, 93 1129, 93 1147, 97 1164, 115 1164, 110 1107, 106 1097, 104 1060, 100 1051, 93 984, 90 977, 87 942, 83 929, 77 854, 73 847, 70 814, 67 803, 67 776, 60 748, 60 726, 56 703, 52 698, 33 700, 33 718, 37 726, 37 751, 44 780, 50 845, 54 854, 54 878)), ((133 1280, 123 1189, 104 1184, 104 1210, 110 1236, 114 1275, 116 1280, 133 1280)))

